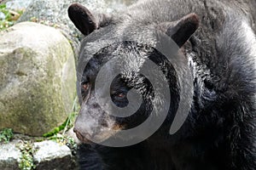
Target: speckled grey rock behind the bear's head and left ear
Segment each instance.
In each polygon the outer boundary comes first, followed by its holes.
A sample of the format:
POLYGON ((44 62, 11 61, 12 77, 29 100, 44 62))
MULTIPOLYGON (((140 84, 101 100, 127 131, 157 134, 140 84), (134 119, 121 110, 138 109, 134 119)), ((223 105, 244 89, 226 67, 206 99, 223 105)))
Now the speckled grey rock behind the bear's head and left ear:
POLYGON ((55 26, 70 40, 75 53, 79 50, 79 41, 83 37, 73 26, 67 15, 67 8, 72 3, 81 3, 93 13, 110 13, 136 0, 34 0, 26 8, 18 22, 35 21, 47 26, 55 26))

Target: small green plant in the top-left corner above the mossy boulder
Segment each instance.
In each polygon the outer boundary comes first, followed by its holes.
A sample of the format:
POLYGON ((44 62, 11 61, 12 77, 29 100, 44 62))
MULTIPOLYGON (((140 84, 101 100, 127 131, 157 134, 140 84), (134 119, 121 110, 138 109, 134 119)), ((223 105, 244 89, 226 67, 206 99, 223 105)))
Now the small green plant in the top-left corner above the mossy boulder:
POLYGON ((6 4, 0 4, 0 12, 5 15, 3 20, 0 20, 0 31, 8 28, 9 26, 14 26, 15 21, 20 18, 20 15, 23 14, 23 10, 12 10, 6 8, 6 4))

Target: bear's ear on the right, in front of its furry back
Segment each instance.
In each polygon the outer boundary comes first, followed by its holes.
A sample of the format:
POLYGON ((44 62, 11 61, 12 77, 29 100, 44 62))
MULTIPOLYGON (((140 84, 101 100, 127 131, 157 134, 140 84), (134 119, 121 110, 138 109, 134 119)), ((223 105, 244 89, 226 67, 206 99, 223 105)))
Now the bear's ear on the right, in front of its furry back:
POLYGON ((172 40, 181 48, 197 30, 199 22, 197 14, 191 13, 176 22, 161 23, 160 29, 172 37, 172 40))

